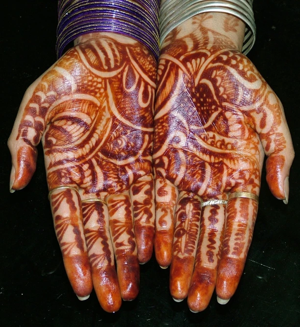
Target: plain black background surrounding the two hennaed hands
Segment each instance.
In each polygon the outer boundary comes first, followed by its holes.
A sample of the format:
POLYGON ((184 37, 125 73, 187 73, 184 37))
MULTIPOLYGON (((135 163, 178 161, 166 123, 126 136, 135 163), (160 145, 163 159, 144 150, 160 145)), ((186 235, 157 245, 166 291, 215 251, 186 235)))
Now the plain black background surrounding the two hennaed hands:
POLYGON ((26 88, 56 60, 56 0, 5 1, 0 29, 0 325, 10 326, 300 326, 300 3, 255 0, 257 41, 249 57, 285 107, 296 158, 286 206, 262 177, 258 219, 244 275, 228 304, 193 314, 169 294, 169 269, 141 266, 140 294, 105 313, 95 293, 79 302, 64 271, 47 199, 39 147, 37 171, 9 193, 6 141, 26 88))

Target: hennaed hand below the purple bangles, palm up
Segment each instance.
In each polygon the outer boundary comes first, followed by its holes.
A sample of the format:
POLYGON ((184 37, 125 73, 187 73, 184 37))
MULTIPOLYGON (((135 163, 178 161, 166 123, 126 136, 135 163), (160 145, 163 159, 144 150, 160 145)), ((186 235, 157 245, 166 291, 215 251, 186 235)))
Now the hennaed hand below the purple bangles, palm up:
POLYGON ((137 296, 139 262, 152 254, 155 77, 138 42, 81 37, 28 88, 8 141, 14 191, 30 181, 42 139, 68 278, 80 299, 94 285, 108 312, 137 296))

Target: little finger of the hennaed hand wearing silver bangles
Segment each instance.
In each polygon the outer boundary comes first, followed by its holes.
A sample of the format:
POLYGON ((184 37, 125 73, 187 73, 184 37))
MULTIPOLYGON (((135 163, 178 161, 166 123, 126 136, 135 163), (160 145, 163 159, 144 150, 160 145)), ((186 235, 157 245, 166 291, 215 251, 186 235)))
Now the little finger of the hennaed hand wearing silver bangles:
POLYGON ((173 184, 160 177, 156 179, 154 249, 162 268, 168 267, 172 260, 177 197, 178 190, 173 184))

